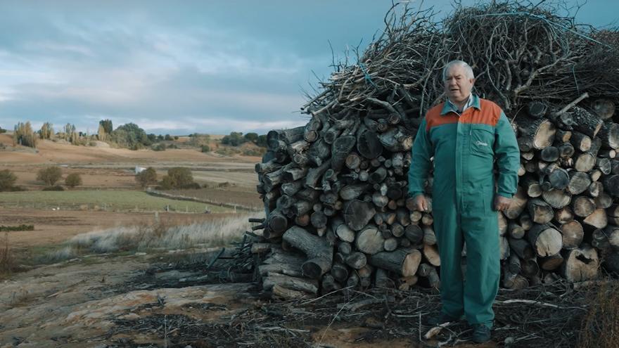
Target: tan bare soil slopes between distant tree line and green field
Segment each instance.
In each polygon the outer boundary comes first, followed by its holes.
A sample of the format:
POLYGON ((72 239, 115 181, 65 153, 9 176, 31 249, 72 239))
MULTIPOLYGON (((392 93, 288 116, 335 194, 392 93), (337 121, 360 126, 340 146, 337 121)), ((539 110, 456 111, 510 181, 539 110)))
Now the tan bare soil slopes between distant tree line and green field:
POLYGON ((102 146, 72 146, 68 143, 39 141, 37 149, 17 146, 8 134, 0 134, 0 169, 10 169, 18 176, 17 185, 29 190, 42 188, 37 171, 49 165, 63 167, 64 176, 82 176, 82 188, 138 189, 134 180, 135 167, 154 167, 159 176, 171 167, 189 167, 196 182, 209 185, 231 183, 245 188, 257 184, 254 165, 260 157, 224 156, 201 153, 198 148, 165 151, 128 150, 102 146))

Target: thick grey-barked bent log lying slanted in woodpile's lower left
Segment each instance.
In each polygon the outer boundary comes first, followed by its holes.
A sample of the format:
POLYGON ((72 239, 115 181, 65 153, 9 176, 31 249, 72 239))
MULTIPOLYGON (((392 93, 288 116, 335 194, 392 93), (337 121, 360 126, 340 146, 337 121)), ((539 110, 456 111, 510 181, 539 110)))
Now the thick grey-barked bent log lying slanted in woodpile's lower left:
POLYGON ((331 269, 333 246, 325 238, 314 236, 299 226, 292 226, 283 233, 283 240, 307 255, 301 266, 304 276, 319 279, 331 269))

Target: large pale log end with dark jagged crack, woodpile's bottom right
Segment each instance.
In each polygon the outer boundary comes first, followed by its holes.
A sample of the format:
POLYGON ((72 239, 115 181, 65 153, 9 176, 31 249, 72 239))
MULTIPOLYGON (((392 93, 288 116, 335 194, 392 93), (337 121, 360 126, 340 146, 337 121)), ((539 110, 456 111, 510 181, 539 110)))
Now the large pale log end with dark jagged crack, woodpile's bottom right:
POLYGON ((590 281, 598 276, 599 259, 594 247, 583 244, 573 250, 565 250, 561 264, 561 276, 570 282, 590 281))

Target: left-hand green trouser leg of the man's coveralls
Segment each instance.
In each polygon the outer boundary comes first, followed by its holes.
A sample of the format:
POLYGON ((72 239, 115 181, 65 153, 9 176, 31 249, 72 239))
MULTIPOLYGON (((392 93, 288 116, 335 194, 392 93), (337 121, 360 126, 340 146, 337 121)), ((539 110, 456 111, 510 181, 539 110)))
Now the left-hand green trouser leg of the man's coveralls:
POLYGON ((461 254, 462 231, 455 205, 435 210, 434 229, 440 254, 440 299, 442 313, 453 317, 464 314, 461 254))

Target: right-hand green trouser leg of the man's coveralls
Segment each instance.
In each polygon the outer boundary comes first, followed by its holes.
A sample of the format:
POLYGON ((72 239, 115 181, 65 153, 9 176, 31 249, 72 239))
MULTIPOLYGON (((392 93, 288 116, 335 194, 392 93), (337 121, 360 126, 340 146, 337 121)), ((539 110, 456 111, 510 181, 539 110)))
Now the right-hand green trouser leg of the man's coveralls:
POLYGON ((466 320, 471 324, 483 323, 492 328, 492 303, 497 297, 500 276, 497 212, 463 214, 461 219, 466 241, 466 320))

